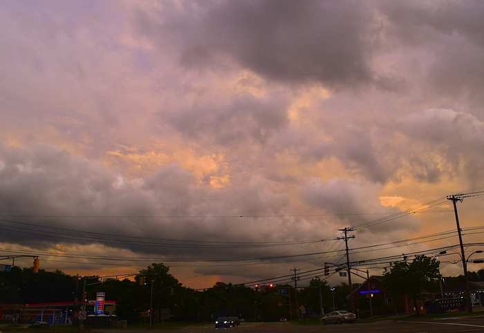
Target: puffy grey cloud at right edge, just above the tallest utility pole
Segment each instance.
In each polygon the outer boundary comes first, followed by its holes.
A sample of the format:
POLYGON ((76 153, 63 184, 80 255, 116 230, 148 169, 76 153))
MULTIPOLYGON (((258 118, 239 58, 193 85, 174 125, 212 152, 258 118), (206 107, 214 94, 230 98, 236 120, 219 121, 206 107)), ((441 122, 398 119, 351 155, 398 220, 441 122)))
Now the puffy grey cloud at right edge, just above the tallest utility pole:
POLYGON ((443 175, 463 172, 467 175, 467 188, 484 186, 484 164, 480 158, 484 123, 474 115, 431 109, 409 115, 402 124, 402 133, 420 138, 421 145, 407 154, 411 170, 419 180, 437 182, 443 175))

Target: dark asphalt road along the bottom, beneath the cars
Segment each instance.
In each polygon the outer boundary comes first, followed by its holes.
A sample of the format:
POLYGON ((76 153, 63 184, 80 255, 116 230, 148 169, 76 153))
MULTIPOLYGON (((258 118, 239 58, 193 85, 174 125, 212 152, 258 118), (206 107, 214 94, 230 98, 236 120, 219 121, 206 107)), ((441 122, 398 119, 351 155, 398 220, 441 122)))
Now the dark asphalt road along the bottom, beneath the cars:
MULTIPOLYGON (((146 333, 146 330, 96 330, 102 333, 146 333)), ((299 326, 292 323, 241 323, 240 327, 218 328, 214 325, 149 330, 151 333, 291 333, 291 332, 355 332, 355 333, 456 333, 484 332, 484 316, 433 318, 421 321, 378 321, 343 325, 299 326), (156 331, 156 332, 153 332, 156 331)))

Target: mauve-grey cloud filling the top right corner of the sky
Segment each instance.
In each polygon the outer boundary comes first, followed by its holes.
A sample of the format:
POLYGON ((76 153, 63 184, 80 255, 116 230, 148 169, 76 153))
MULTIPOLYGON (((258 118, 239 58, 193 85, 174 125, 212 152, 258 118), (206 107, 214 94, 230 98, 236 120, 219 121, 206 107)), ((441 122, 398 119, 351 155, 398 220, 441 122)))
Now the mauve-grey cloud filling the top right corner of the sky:
POLYGON ((387 39, 407 50, 409 59, 426 68, 426 91, 467 98, 483 115, 484 3, 482 1, 380 1, 387 39), (425 50, 425 53, 422 53, 425 50), (425 64, 428 62, 428 64, 425 64))

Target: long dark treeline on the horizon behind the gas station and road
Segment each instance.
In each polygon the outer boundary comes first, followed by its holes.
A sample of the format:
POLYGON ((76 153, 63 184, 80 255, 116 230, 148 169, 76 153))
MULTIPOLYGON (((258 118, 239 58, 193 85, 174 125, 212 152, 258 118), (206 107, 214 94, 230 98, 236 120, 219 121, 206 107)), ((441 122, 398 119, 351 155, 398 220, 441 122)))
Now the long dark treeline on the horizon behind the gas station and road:
MULTIPOLYGON (((97 276, 70 276, 57 270, 47 272, 12 266, 10 272, 0 272, 0 304, 35 304, 49 302, 74 303, 83 298, 83 286, 88 300, 95 300, 97 292, 104 292, 106 300, 116 301, 115 314, 136 322, 143 319, 152 305, 154 310, 169 308, 176 321, 213 321, 218 316, 239 316, 246 321, 279 321, 297 318, 295 290, 291 285, 275 285, 267 292, 256 292, 254 286, 216 283, 205 290, 184 287, 169 274, 169 267, 153 263, 142 269, 135 280, 101 280, 97 276), (292 313, 290 312, 292 307, 292 313)), ((261 286, 262 287, 262 286, 261 286)), ((346 303, 348 285, 337 285, 333 292, 326 281, 321 283, 325 312, 346 303)), ((298 305, 306 314, 319 314, 319 280, 299 289, 298 305)))

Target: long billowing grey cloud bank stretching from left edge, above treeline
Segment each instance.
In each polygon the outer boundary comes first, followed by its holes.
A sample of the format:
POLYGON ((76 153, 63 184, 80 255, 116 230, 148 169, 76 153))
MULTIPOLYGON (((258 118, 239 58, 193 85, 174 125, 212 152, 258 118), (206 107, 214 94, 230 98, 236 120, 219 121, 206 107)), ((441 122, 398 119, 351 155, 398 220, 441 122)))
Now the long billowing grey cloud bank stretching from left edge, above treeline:
MULTIPOLYGON (((288 205, 288 197, 273 193, 267 184, 263 178, 254 177, 239 187, 211 191, 176 164, 161 168, 143 181, 130 181, 98 162, 48 144, 32 144, 28 149, 1 146, 0 211, 6 218, 0 222, 0 241, 41 250, 55 244, 106 242, 138 254, 220 256, 218 249, 202 247, 194 253, 189 248, 160 247, 164 242, 154 239, 276 240, 280 235, 274 228, 280 218, 264 219, 268 229, 260 229, 257 234, 253 231, 259 229, 260 221, 235 218, 278 214, 288 205), (221 211, 234 218, 210 217, 221 211), (151 243, 128 242, 129 238, 118 236, 151 239, 151 243)), ((305 237, 304 230, 285 236, 305 237)), ((224 255, 229 254, 230 249, 224 255)), ((245 254, 257 256, 257 251, 245 254)))

